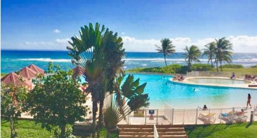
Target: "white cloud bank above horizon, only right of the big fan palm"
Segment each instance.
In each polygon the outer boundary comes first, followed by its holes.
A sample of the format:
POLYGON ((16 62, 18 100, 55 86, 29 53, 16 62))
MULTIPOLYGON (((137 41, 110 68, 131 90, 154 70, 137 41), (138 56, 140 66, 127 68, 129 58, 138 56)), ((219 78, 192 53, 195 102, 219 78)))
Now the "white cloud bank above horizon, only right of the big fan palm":
MULTIPOLYGON (((142 51, 142 52, 155 52, 155 45, 160 45, 160 40, 156 39, 137 39, 135 37, 123 36, 124 48, 126 51, 142 51)), ((215 38, 203 38, 199 40, 192 40, 189 37, 175 37, 170 38, 173 42, 173 45, 176 46, 177 52, 183 52, 183 48, 186 46, 196 45, 200 49, 203 49, 204 46, 212 41, 215 41, 215 38)), ((257 36, 228 36, 229 40, 233 44, 234 52, 254 52, 257 53, 257 36)))

